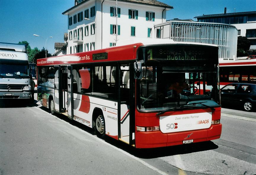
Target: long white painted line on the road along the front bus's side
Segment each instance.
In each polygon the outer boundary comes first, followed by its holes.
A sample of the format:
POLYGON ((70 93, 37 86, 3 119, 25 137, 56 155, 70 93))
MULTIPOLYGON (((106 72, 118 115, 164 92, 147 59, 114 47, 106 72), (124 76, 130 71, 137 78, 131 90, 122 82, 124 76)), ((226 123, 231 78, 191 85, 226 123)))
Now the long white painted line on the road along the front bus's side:
MULTIPOLYGON (((39 105, 39 106, 37 106, 37 107, 35 106, 35 108, 40 109, 40 108, 39 108, 40 106, 41 106, 41 105, 39 105)), ((34 108, 34 107, 33 107, 33 108, 34 108)), ((131 155, 131 154, 127 153, 126 151, 124 151, 124 150, 122 150, 122 149, 120 149, 120 148, 116 148, 115 146, 111 145, 110 143, 105 142, 105 140, 102 140, 102 139, 98 138, 97 136, 92 135, 92 134, 90 134, 90 133, 88 133, 88 132, 86 132, 86 131, 84 131, 84 130, 82 130, 82 129, 76 127, 76 126, 73 126, 72 124, 68 123, 67 121, 64 121, 64 120, 58 118, 57 116, 54 116, 54 115, 52 115, 52 114, 50 114, 50 113, 48 113, 48 112, 46 112, 46 111, 44 111, 44 110, 42 110, 42 109, 40 109, 40 110, 43 111, 43 112, 45 112, 45 113, 47 113, 47 114, 49 114, 49 115, 51 115, 51 116, 53 116, 55 119, 58 119, 58 120, 64 122, 65 124, 68 124, 69 126, 71 126, 71 127, 75 128, 75 129, 77 129, 77 130, 79 130, 79 131, 85 133, 85 134, 88 135, 89 137, 92 137, 92 138, 94 138, 94 139, 96 139, 96 140, 98 140, 98 141, 104 143, 105 145, 108 145, 108 146, 110 146, 111 148, 114 148, 115 150, 118 150, 119 152, 121 152, 121 153, 123 153, 123 154, 125 154, 125 155, 128 155, 130 158, 135 159, 136 161, 142 163, 143 165, 147 166, 148 168, 151 168, 152 170, 158 172, 159 174, 162 174, 162 175, 169 175, 169 174, 165 173, 164 171, 161 171, 161 170, 159 170, 158 168, 156 168, 156 167, 154 167, 154 166, 152 166, 152 165, 146 163, 145 161, 141 160, 140 158, 137 158, 137 157, 135 157, 134 155, 131 155)), ((181 171, 183 171, 183 170, 181 170, 181 171)), ((179 169, 179 175, 185 175, 185 174, 180 174, 180 169, 179 169)))

